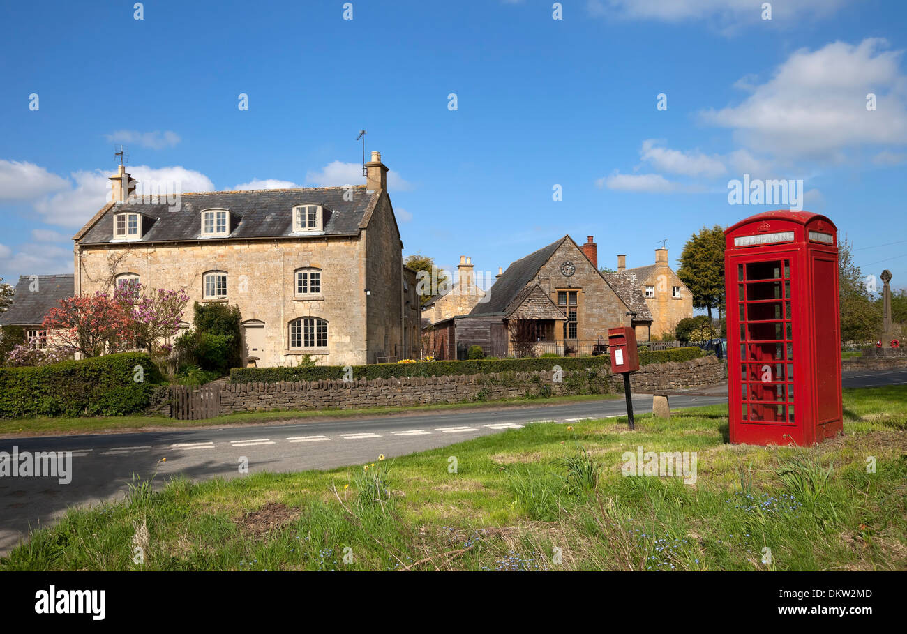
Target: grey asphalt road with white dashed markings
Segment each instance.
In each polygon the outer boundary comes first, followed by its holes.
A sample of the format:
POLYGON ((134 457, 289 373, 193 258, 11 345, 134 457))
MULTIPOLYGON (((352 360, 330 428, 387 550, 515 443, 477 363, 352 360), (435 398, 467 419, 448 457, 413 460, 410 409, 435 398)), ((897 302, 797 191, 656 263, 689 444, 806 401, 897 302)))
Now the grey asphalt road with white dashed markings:
MULTIPOLYGON (((907 383, 907 370, 848 373, 847 387, 907 383)), ((727 400, 717 388, 707 395, 671 395, 671 408, 727 400)), ((652 397, 633 398, 634 411, 651 411, 652 397)), ((41 436, 0 440, 0 451, 72 452, 72 481, 54 477, 0 477, 0 553, 28 532, 59 519, 68 506, 122 497, 132 473, 157 472, 157 483, 181 473, 190 480, 237 477, 239 461, 249 473, 331 469, 443 447, 469 438, 539 421, 570 423, 626 415, 623 399, 563 405, 494 406, 430 414, 376 416, 325 422, 189 429, 132 434, 41 436), (165 463, 159 463, 161 458, 165 463)))

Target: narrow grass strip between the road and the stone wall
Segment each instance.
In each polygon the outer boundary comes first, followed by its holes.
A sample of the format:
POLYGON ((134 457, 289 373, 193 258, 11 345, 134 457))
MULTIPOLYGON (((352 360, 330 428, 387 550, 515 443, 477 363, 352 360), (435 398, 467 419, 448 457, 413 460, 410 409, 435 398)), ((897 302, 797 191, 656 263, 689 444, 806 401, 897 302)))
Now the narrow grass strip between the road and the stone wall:
POLYGON ((504 399, 478 403, 452 403, 446 405, 417 405, 405 407, 369 407, 366 409, 316 409, 316 410, 275 410, 273 412, 244 412, 197 421, 180 421, 170 416, 83 416, 79 418, 35 417, 0 418, 0 438, 66 434, 122 434, 157 429, 190 429, 192 427, 228 427, 258 423, 301 423, 317 419, 353 418, 359 416, 385 416, 418 414, 441 410, 461 410, 476 407, 510 407, 515 405, 557 405, 575 401, 595 401, 623 398, 619 394, 572 395, 551 398, 504 399))

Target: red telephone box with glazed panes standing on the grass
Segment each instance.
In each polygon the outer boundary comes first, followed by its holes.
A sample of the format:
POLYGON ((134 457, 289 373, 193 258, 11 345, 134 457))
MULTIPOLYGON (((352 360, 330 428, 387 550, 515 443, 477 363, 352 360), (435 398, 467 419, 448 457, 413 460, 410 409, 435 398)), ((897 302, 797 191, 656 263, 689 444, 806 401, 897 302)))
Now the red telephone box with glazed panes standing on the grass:
POLYGON ((725 230, 731 443, 808 445, 840 434, 834 223, 767 211, 725 230))

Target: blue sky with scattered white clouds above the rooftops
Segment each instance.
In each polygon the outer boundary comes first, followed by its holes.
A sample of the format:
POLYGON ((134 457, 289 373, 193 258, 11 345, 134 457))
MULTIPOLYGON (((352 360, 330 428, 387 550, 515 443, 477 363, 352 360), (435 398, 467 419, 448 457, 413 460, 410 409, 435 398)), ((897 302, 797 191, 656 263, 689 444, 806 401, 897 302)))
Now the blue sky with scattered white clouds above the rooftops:
POLYGON ((334 1, 134 4, 0 8, 7 281, 72 272, 115 143, 184 191, 343 185, 364 181, 366 129, 405 254, 439 265, 496 272, 570 234, 610 267, 668 239, 676 267, 703 225, 785 207, 728 204, 747 173, 804 180, 863 273, 907 285, 901 2, 787 0, 771 20, 749 0, 567 0, 561 20, 532 0, 353 0, 352 20, 334 1))

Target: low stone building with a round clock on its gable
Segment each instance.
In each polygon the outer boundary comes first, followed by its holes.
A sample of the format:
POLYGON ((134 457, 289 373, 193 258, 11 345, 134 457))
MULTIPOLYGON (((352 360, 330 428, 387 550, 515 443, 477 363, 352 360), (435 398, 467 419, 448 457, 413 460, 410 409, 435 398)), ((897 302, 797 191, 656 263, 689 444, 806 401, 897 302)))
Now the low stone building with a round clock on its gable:
POLYGON ((592 236, 581 247, 570 236, 513 262, 466 315, 426 331, 436 358, 462 357, 469 346, 486 356, 600 354, 608 328, 630 326, 649 340, 651 316, 635 278, 610 279, 598 266, 592 236))

